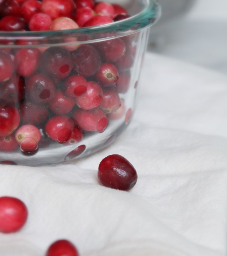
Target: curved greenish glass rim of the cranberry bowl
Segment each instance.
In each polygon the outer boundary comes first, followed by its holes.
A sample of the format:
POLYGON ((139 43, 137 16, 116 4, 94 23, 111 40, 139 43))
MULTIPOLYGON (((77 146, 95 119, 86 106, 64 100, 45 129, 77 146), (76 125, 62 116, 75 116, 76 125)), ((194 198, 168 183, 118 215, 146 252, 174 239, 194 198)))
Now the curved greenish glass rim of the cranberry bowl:
MULTIPOLYGON (((42 31, 42 32, 0 32, 0 48, 5 47, 7 44, 4 44, 4 41, 16 41, 16 40, 25 40, 25 41, 37 41, 39 40, 39 45, 56 45, 63 43, 63 39, 66 38, 75 38, 75 41, 72 43, 81 44, 81 43, 90 43, 94 40, 104 40, 113 37, 126 36, 138 32, 141 29, 144 29, 148 26, 152 26, 156 23, 157 19, 160 17, 161 8, 157 0, 146 0, 147 4, 145 8, 136 15, 133 15, 130 18, 124 19, 122 21, 117 21, 113 23, 108 23, 101 26, 93 26, 79 29, 71 30, 57 30, 57 31, 42 31)), ((63 45, 68 43, 63 43, 63 45)), ((28 47, 28 45, 24 45, 28 47)), ((32 47, 37 47, 37 45, 30 45, 32 47)), ((22 45, 7 45, 7 47, 22 47, 22 45)))

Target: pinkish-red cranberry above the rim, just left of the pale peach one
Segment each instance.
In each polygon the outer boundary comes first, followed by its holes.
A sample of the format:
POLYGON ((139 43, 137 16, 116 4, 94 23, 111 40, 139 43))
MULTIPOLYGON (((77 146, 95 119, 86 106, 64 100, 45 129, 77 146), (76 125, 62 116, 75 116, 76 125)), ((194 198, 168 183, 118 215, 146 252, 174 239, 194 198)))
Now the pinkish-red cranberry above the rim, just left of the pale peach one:
POLYGON ((31 31, 45 31, 49 30, 52 19, 48 14, 38 12, 34 14, 29 21, 29 29, 31 31))

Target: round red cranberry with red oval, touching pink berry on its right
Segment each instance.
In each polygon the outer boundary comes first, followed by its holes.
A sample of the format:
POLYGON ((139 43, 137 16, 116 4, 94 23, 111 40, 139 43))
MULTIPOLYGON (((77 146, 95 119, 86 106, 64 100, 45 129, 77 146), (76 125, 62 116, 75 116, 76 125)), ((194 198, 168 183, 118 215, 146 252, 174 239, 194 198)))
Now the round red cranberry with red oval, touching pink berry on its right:
POLYGON ((87 91, 87 81, 84 77, 72 75, 64 82, 64 94, 68 97, 77 97, 85 94, 87 91))

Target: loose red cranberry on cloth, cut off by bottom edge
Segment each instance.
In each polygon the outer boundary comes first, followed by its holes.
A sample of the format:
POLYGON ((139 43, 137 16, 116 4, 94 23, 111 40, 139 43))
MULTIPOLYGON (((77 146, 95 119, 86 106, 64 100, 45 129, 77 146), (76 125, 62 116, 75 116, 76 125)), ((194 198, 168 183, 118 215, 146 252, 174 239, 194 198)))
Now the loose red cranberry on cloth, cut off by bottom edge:
POLYGON ((45 256, 79 256, 79 253, 70 241, 62 239, 53 242, 45 256))

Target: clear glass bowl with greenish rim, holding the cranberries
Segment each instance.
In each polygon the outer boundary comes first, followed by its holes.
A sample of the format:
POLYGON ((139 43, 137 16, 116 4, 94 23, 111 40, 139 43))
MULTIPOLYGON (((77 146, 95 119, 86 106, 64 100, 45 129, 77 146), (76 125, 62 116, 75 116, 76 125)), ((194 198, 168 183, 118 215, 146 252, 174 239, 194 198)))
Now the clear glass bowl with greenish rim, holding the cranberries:
POLYGON ((160 7, 155 0, 115 3, 131 17, 72 30, 0 32, 1 163, 87 156, 129 125, 160 7))

